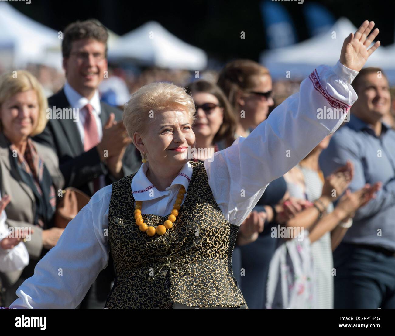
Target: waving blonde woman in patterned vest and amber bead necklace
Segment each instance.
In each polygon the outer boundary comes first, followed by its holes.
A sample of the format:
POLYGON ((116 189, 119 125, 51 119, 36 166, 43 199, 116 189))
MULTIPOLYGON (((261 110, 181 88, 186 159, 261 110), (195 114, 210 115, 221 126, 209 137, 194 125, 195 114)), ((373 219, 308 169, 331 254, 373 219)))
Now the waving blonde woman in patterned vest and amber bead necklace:
POLYGON ((117 275, 105 308, 247 308, 231 271, 237 229, 269 182, 339 128, 343 120, 320 120, 317 109, 349 109, 357 99, 350 84, 380 45, 368 49, 378 34, 367 38, 373 26, 365 21, 333 68, 315 69, 298 94, 211 162, 186 155, 195 143, 195 107, 184 88, 140 88, 123 120, 143 165, 92 197, 11 308, 75 308, 110 252, 117 275))

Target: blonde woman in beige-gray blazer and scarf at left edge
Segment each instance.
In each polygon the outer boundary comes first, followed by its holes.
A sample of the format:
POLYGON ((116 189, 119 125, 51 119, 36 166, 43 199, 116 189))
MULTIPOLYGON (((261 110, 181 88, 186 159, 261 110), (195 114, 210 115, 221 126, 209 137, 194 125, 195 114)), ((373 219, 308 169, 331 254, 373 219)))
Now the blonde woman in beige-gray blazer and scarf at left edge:
POLYGON ((56 195, 63 176, 55 152, 32 141, 47 123, 47 99, 28 71, 0 76, 0 192, 9 195, 6 224, 22 227, 30 262, 24 270, 0 273, 2 304, 15 300, 15 291, 34 273, 36 263, 56 245, 63 230, 53 227, 56 195))

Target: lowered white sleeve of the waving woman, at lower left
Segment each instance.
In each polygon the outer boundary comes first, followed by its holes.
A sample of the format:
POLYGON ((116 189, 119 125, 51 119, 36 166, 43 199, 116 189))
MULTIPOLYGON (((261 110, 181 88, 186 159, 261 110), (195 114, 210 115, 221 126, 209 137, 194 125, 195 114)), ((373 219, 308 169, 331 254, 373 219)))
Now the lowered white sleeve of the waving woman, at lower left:
POLYGON ((111 185, 99 190, 68 223, 58 243, 17 289, 10 308, 76 308, 108 265, 111 185))

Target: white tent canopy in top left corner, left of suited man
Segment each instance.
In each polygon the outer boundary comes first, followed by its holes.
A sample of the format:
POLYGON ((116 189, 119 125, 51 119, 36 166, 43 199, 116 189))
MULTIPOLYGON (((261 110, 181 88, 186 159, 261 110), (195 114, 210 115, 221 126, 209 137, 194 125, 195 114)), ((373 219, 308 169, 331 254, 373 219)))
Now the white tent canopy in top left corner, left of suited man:
POLYGON ((61 43, 56 30, 37 23, 3 1, 0 2, 0 31, 0 51, 9 50, 12 66, 23 67, 29 62, 43 64, 48 59, 47 48, 61 43))

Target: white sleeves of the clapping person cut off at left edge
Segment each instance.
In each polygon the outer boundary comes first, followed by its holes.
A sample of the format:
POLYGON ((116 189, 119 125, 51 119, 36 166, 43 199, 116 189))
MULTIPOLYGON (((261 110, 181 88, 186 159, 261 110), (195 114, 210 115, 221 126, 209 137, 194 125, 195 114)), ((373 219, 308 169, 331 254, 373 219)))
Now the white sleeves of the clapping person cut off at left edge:
MULTIPOLYGON (((1 194, 0 194, 1 199, 1 194)), ((7 215, 3 210, 0 214, 0 242, 8 237, 8 230, 6 227, 7 215)), ((29 253, 26 250, 23 242, 17 246, 3 250, 0 247, 0 272, 12 272, 22 270, 29 264, 29 253)))

